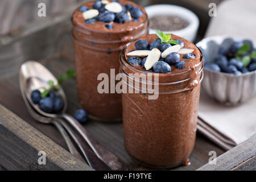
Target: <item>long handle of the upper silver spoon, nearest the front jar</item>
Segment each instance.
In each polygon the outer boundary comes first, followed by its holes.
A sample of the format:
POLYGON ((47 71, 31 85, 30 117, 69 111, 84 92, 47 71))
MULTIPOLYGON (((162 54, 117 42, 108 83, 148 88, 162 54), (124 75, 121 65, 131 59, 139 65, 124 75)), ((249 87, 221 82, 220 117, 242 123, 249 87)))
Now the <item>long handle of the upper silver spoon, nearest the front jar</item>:
POLYGON ((92 148, 93 152, 97 155, 99 159, 102 160, 108 167, 112 170, 127 170, 126 165, 117 158, 112 152, 102 146, 96 139, 92 137, 85 130, 82 125, 76 121, 69 114, 63 114, 63 117, 78 131, 78 133, 85 139, 85 141, 89 144, 90 148, 92 148))

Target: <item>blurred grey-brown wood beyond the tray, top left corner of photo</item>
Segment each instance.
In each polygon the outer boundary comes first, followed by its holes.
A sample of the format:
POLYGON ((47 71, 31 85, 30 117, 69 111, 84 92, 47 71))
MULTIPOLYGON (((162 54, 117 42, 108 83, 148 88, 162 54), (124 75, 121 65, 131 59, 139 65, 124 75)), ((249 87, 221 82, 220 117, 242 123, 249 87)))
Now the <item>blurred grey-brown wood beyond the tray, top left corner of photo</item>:
POLYGON ((48 16, 52 16, 86 1, 88 0, 1 0, 0 35, 40 19, 38 16, 39 3, 46 3, 46 13, 48 16))

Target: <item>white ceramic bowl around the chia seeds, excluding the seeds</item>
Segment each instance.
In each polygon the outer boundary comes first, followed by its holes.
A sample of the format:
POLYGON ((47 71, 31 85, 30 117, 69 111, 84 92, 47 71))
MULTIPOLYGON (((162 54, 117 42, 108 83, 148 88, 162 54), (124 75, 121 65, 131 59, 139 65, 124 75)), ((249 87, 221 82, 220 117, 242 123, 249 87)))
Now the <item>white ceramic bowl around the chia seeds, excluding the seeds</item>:
MULTIPOLYGON (((173 15, 187 20, 189 23, 187 27, 177 31, 164 31, 164 33, 175 34, 191 42, 195 40, 199 28, 199 18, 192 11, 175 5, 152 5, 145 7, 145 10, 148 19, 155 15, 173 15)), ((155 34, 155 30, 150 28, 149 34, 155 34)))

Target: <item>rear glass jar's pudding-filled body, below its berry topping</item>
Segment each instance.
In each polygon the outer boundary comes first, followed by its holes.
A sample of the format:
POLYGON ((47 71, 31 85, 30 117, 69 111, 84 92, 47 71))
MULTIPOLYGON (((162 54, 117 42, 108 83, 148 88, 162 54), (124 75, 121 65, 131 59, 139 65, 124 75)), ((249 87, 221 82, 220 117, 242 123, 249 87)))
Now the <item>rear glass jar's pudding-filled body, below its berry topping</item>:
MULTIPOLYGON (((142 7, 141 7, 142 8, 142 7)), ((145 11, 143 10, 144 14, 145 11)), ((130 41, 148 34, 148 19, 137 27, 119 32, 92 30, 86 26, 73 23, 72 38, 76 64, 76 82, 81 106, 93 115, 94 119, 103 121, 121 121, 121 94, 99 93, 100 73, 110 78, 110 69, 119 69, 119 55, 122 48, 130 41)), ((102 23, 102 22, 99 22, 102 23)), ((114 75, 115 75, 114 74, 114 75)))

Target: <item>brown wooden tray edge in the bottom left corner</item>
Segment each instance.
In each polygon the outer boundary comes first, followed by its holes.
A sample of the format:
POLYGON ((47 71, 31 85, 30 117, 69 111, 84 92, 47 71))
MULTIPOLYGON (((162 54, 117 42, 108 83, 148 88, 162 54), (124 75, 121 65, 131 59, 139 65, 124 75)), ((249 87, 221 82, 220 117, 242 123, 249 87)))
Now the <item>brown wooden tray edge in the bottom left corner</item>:
POLYGON ((90 170, 51 139, 0 105, 0 164, 9 170, 90 170), (46 152, 46 165, 38 152, 46 152))

